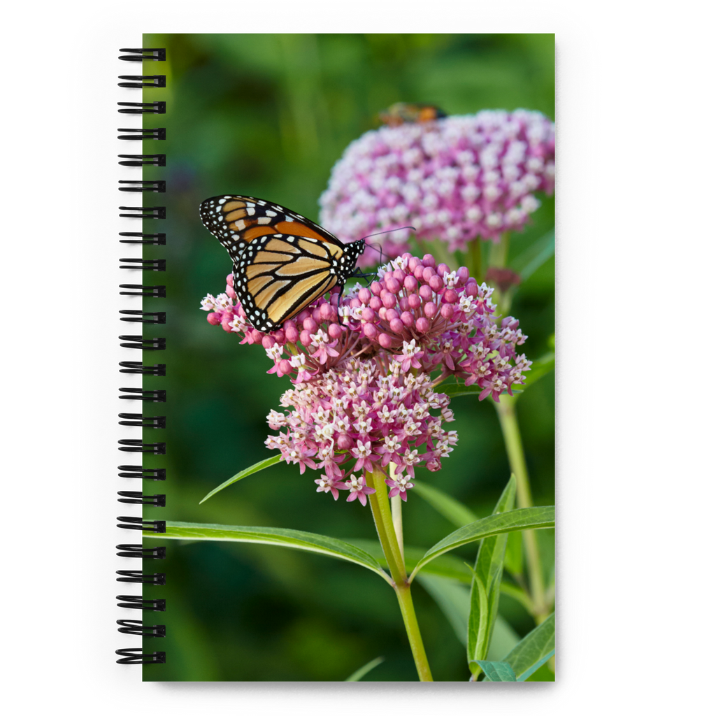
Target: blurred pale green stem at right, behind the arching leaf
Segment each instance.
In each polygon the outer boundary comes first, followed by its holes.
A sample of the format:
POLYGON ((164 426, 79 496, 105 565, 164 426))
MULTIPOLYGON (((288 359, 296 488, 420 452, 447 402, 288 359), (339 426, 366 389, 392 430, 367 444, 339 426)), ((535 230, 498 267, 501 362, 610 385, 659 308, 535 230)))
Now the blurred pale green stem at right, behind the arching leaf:
MULTIPOLYGON (((502 435, 505 440, 505 448, 507 449, 510 468, 517 478, 517 506, 532 507, 530 478, 527 474, 527 463, 522 447, 522 437, 517 422, 515 405, 516 397, 500 395, 500 402, 495 403, 495 408, 500 418, 500 427, 502 428, 502 435)), ((535 531, 525 530, 522 534, 527 556, 527 569, 530 575, 530 596, 532 598, 535 619, 538 624, 541 624, 548 616, 544 598, 542 561, 537 546, 535 531)))

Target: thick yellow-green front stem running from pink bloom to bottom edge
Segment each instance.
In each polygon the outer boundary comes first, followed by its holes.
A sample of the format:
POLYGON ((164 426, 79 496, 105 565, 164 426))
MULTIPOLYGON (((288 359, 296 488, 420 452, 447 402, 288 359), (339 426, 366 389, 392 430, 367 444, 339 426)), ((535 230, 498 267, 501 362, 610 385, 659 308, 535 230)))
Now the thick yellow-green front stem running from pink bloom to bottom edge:
POLYGON ((400 604, 400 613, 410 642, 412 658, 415 660, 417 675, 420 677, 420 681, 432 681, 430 666, 427 663, 427 654, 425 654, 420 628, 417 624, 417 616, 415 616, 415 607, 412 604, 410 584, 407 581, 407 571, 405 570, 405 561, 402 558, 401 545, 393 526, 390 499, 388 498, 384 478, 385 474, 377 465, 374 465, 372 473, 365 473, 366 484, 376 490, 368 497, 370 508, 373 513, 375 528, 378 531, 378 538, 388 562, 390 575, 393 578, 395 594, 398 598, 398 604, 400 604))

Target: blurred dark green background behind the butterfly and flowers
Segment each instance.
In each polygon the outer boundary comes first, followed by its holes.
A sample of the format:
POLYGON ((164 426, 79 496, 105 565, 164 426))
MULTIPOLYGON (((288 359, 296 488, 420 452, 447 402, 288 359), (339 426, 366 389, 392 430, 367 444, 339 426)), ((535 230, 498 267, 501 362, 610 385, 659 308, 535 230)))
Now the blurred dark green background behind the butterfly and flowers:
MULTIPOLYGON (((144 231, 165 231, 167 245, 145 248, 166 258, 166 274, 147 273, 146 284, 166 284, 167 299, 144 301, 166 311, 160 329, 165 378, 145 379, 165 389, 158 408, 166 430, 145 432, 166 442, 167 454, 145 465, 166 467, 164 483, 145 481, 146 493, 166 493, 166 508, 145 509, 148 519, 274 526, 337 538, 375 538, 369 507, 318 494, 318 475, 281 463, 223 490, 211 489, 248 465, 269 457, 266 415, 279 409, 288 379, 267 375, 271 362, 260 346, 210 326, 200 311, 207 293, 226 286, 231 261, 203 228, 198 207, 220 193, 266 198, 318 219, 318 198, 345 147, 378 126, 378 112, 393 102, 430 102, 450 115, 483 109, 539 110, 555 119, 555 38, 551 33, 144 33, 142 47, 165 47, 167 61, 145 62, 142 74, 166 74, 167 88, 145 90, 142 101, 165 100, 166 115, 147 115, 144 127, 165 126, 165 142, 144 142, 142 153, 166 153, 165 168, 145 179, 167 180, 165 195, 145 205, 167 205, 165 221, 144 231), (161 224, 161 226, 159 226, 161 224)), ((538 241, 554 223, 554 198, 533 223, 511 237, 511 256, 538 241)), ((457 266, 452 267, 457 268, 457 266)), ((511 314, 528 336, 536 359, 554 331, 554 259, 520 286, 511 314)), ((451 406, 460 442, 440 473, 417 478, 445 490, 478 516, 488 515, 510 474, 497 415, 490 400, 458 397, 451 406)), ((554 374, 518 402, 533 497, 554 503, 554 374)), ((405 543, 428 548, 455 527, 417 495, 403 511, 405 543)), ((540 531, 545 570, 553 562, 553 531, 540 531)), ((165 571, 167 584, 145 587, 145 599, 167 600, 167 611, 145 622, 167 625, 167 638, 145 640, 145 650, 167 652, 167 663, 142 667, 144 681, 342 681, 377 656, 385 662, 365 681, 417 681, 397 600, 369 571, 279 547, 228 543, 165 543, 168 558, 144 571, 165 571)), ((470 563, 475 548, 453 554, 470 563)), ((419 584, 414 599, 436 681, 466 681, 465 649, 448 619, 419 584)), ((523 636, 534 627, 527 612, 502 596, 500 614, 523 636)), ((536 674, 538 679, 546 667, 536 674)), ((533 677, 534 678, 534 677, 533 677)))

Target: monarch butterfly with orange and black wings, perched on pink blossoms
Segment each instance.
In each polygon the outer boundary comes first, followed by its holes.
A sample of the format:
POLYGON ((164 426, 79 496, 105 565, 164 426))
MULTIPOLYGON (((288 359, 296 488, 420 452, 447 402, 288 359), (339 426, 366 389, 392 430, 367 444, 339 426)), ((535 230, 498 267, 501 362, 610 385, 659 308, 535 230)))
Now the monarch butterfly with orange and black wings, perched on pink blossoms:
POLYGON ((203 225, 233 261, 233 288, 249 323, 267 333, 356 271, 363 239, 344 244, 295 211, 251 196, 204 200, 203 225))

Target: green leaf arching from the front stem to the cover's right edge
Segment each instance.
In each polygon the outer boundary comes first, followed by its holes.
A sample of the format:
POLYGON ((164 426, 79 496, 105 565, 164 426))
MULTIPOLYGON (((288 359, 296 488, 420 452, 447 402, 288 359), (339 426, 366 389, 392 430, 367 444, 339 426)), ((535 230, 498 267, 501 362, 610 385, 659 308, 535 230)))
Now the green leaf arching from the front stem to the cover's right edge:
POLYGON ((490 515, 481 520, 460 527, 449 534, 445 539, 433 545, 420 559, 410 575, 410 580, 415 579, 417 572, 422 566, 435 557, 455 549, 463 544, 476 542, 478 539, 492 537, 493 535, 516 530, 532 530, 546 527, 554 527, 554 507, 523 507, 518 510, 501 515, 490 515))

